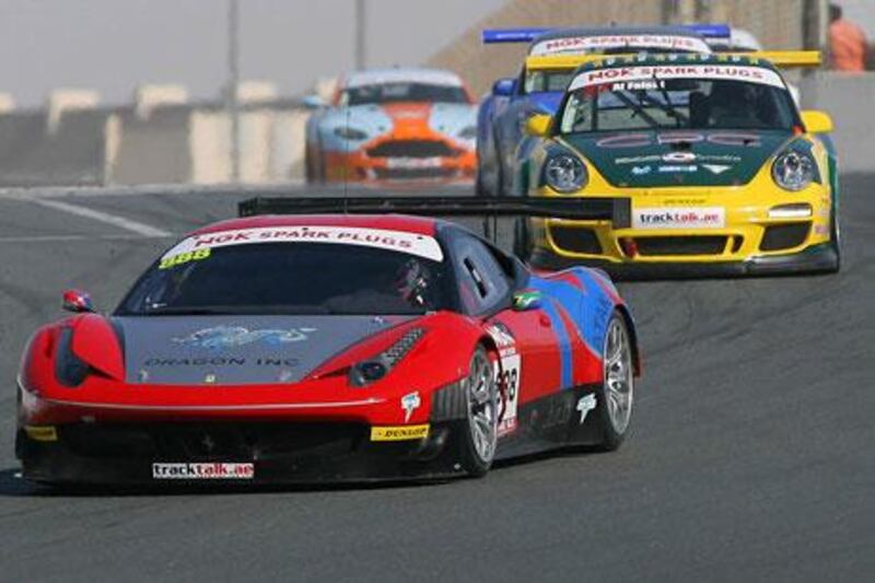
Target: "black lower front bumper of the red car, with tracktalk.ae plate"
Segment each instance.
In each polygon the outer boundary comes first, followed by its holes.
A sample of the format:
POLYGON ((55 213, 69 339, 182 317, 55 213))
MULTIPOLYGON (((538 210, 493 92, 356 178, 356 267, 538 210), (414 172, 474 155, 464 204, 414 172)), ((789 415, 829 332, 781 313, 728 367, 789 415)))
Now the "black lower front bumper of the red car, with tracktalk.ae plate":
POLYGON ((247 486, 463 476, 465 422, 71 423, 20 428, 23 477, 67 486, 247 486), (424 429, 423 429, 424 428, 424 429), (382 430, 381 430, 382 429, 382 430), (388 429, 388 431, 386 431, 388 429))

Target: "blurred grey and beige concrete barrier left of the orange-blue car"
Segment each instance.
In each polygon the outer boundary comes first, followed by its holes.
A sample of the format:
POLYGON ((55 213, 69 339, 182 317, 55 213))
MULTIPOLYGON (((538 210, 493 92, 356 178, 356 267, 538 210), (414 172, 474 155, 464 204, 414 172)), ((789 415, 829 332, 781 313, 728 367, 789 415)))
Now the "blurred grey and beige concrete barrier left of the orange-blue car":
MULTIPOLYGON (((231 121, 221 104, 0 112, 0 187, 221 184, 231 179, 231 121)), ((259 102, 241 113, 241 179, 303 178, 308 110, 259 102)))

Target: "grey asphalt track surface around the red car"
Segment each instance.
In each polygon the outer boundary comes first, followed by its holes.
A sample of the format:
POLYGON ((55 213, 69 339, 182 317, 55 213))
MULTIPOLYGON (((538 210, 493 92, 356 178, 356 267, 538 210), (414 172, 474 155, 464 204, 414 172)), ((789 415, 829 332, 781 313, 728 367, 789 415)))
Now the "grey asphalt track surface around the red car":
POLYGON ((844 179, 837 277, 621 285, 646 376, 617 453, 432 486, 172 495, 22 483, 18 361, 62 289, 113 308, 172 243, 149 229, 183 233, 242 197, 0 194, 0 580, 871 581, 874 180, 844 179))

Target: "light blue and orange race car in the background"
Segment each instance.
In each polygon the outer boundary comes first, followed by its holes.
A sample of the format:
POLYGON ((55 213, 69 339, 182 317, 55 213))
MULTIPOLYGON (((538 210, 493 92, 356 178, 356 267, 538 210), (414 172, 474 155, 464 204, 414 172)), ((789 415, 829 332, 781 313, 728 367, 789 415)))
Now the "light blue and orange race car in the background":
POLYGON ((471 179, 476 123, 476 106, 454 73, 352 73, 307 123, 307 179, 471 179))

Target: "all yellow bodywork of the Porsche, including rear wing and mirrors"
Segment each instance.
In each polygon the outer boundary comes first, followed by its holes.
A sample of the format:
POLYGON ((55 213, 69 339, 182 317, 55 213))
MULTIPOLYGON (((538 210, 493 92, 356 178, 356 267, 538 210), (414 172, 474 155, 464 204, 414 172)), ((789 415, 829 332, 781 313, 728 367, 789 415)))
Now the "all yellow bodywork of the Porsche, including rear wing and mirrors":
MULTIPOLYGON (((592 63, 611 66, 614 63, 633 65, 641 60, 651 62, 682 61, 697 62, 739 62, 743 66, 771 63, 780 68, 817 67, 821 56, 817 51, 760 51, 746 54, 631 56, 631 55, 564 55, 529 57, 528 70, 572 69, 592 63)), ((751 259, 772 256, 791 256, 812 247, 832 242, 835 212, 832 173, 830 154, 825 143, 815 133, 828 133, 832 123, 820 112, 803 112, 803 124, 808 133, 788 138, 804 139, 812 144, 810 153, 819 170, 819 182, 813 182, 801 191, 789 191, 775 183, 772 165, 775 155, 784 151, 778 148, 759 167, 754 178, 746 184, 732 186, 675 186, 639 187, 615 186, 610 184, 596 165, 583 152, 568 141, 555 137, 558 143, 575 151, 588 173, 585 186, 574 194, 559 194, 549 186, 538 186, 536 168, 545 162, 542 148, 533 152, 527 164, 529 176, 526 190, 534 197, 617 197, 631 201, 631 220, 628 224, 612 221, 563 221, 556 219, 533 219, 530 243, 536 253, 581 263, 603 263, 607 265, 641 264, 715 264, 745 263, 751 259), (665 228, 665 224, 645 224, 641 213, 658 214, 662 209, 670 210, 677 217, 714 217, 720 221, 711 224, 665 228), (691 211, 691 212, 688 212, 691 211), (631 226, 630 226, 631 225, 631 226), (796 229, 791 229, 793 225, 796 229), (774 230, 771 228, 785 226, 774 230), (792 231, 792 236, 788 233, 792 231), (767 237, 767 232, 770 237, 767 237), (782 236, 775 236, 781 234, 782 236), (560 236, 561 235, 561 236, 560 236), (597 242, 597 244, 596 244, 597 242), (792 244, 791 244, 792 243, 792 244), (570 248, 573 247, 573 248, 570 248)), ((541 128, 542 121, 529 120, 528 131, 548 139, 549 130, 541 128)), ((682 221, 670 221, 678 223, 682 221)), ((836 243, 836 242, 832 242, 836 243)))

